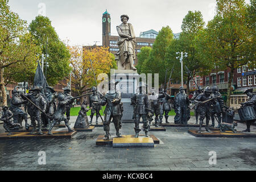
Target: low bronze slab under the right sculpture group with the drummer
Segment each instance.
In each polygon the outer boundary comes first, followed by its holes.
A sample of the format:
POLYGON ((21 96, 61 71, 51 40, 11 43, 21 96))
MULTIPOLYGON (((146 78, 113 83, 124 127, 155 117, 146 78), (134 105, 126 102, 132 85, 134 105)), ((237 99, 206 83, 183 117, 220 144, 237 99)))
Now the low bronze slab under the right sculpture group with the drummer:
POLYGON ((237 131, 237 133, 233 133, 232 131, 211 131, 210 133, 202 131, 202 133, 197 133, 197 130, 188 130, 188 133, 195 137, 256 138, 256 133, 242 131, 237 131))

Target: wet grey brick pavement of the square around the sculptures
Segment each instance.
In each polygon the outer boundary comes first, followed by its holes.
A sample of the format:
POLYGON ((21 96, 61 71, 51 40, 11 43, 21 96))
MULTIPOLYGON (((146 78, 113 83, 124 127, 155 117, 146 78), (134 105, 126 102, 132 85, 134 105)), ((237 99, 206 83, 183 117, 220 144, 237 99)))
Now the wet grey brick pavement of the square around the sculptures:
MULTIPOLYGON (((72 125, 76 117, 71 118, 72 125)), ((169 118, 170 122, 174 117, 169 118)), ((192 117, 191 122, 195 122, 192 117)), ((141 124, 142 125, 142 124, 141 124)), ((0 125, 0 132, 3 132, 0 125)), ((134 134, 134 124, 124 123, 122 134, 134 134)), ((238 124, 238 130, 245 128, 238 124)), ((256 130, 256 126, 252 126, 256 130)), ((110 133, 115 134, 111 123, 110 133)), ((196 138, 189 127, 166 127, 151 131, 160 139, 154 148, 96 146, 102 127, 79 132, 72 139, 0 140, 0 170, 255 170, 255 138, 196 138), (38 164, 38 152, 46 152, 46 165, 38 164), (210 165, 209 151, 216 151, 217 164, 210 165)), ((60 129, 62 130, 62 129, 60 129)), ((143 134, 141 131, 140 134, 143 134)))

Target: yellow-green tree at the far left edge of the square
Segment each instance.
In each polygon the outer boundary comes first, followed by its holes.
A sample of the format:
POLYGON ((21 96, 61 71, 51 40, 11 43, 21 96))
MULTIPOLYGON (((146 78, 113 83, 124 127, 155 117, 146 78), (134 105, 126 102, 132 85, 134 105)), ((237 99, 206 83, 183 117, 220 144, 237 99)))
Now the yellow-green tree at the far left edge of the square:
POLYGON ((0 0, 0 89, 5 105, 5 85, 31 77, 39 52, 32 36, 27 32, 26 21, 10 10, 8 2, 0 0))

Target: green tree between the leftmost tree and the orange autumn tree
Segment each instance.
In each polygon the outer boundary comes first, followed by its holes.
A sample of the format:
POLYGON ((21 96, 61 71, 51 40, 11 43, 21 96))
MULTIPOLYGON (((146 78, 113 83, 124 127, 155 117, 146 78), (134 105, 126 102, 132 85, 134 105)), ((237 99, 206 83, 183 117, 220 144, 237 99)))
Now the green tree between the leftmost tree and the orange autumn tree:
POLYGON ((49 85, 53 86, 67 77, 71 71, 69 50, 59 39, 49 18, 42 15, 36 16, 35 20, 30 23, 29 30, 34 36, 36 44, 42 48, 44 55, 46 52, 49 55, 46 80, 49 85))

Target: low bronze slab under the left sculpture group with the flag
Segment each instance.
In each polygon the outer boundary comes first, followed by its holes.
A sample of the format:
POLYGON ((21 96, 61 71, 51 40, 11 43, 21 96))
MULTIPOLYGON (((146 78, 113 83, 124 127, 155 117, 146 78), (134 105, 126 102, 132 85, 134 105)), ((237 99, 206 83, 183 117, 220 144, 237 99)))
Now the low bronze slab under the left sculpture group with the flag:
POLYGON ((13 133, 14 135, 7 135, 7 133, 0 134, 0 139, 24 139, 24 138, 72 138, 77 131, 52 131, 53 135, 48 135, 47 132, 43 132, 43 135, 30 134, 29 132, 13 133))

